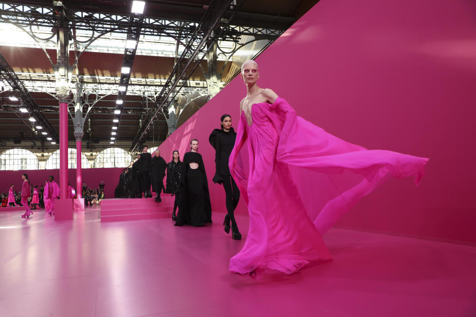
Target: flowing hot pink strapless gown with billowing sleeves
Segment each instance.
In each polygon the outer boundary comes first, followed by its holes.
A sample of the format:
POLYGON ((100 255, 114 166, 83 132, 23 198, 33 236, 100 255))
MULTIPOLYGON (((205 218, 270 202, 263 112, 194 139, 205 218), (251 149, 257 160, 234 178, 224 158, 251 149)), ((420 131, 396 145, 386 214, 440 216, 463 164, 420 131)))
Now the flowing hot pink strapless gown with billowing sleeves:
POLYGON ((241 113, 229 161, 249 212, 248 236, 230 260, 232 272, 292 273, 331 259, 321 235, 390 176, 414 176, 417 185, 428 161, 345 142, 298 117, 282 98, 252 105, 251 117, 248 126, 241 113), (247 167, 239 155, 246 141, 247 167), (302 184, 315 189, 311 197, 302 196, 302 184))

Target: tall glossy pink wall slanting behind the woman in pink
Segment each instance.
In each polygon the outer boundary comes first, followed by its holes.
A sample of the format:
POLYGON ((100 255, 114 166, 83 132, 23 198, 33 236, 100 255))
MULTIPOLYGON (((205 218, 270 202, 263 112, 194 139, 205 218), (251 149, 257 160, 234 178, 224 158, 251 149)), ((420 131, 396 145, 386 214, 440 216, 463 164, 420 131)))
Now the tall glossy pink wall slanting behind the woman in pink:
MULTIPOLYGON (((321 0, 257 58, 260 86, 298 115, 368 149, 430 158, 419 187, 392 179, 338 225, 476 242, 472 12, 472 0, 321 0)), ((215 211, 225 211, 224 190, 211 181, 208 136, 224 113, 237 124, 244 96, 235 78, 160 146, 170 161, 199 140, 215 211)))

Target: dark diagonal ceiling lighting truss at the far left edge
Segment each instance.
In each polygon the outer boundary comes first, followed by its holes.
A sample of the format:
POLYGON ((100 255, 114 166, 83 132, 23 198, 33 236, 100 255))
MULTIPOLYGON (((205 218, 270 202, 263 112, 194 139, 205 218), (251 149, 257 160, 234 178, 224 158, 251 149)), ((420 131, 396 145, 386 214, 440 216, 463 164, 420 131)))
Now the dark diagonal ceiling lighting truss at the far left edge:
POLYGON ((13 69, 10 67, 5 58, 0 54, 0 77, 8 82, 11 89, 15 91, 20 97, 22 104, 28 109, 30 117, 34 117, 38 125, 41 125, 48 133, 50 137, 59 142, 60 137, 56 133, 55 129, 51 125, 50 121, 40 111, 40 107, 36 104, 30 92, 25 88, 23 83, 18 79, 13 69))

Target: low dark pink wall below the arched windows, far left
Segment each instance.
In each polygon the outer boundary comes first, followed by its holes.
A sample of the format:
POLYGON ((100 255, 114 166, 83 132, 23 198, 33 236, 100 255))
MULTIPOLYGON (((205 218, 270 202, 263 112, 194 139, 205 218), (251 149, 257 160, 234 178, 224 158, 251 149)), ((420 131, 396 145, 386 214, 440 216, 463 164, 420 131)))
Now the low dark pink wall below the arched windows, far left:
MULTIPOLYGON (((119 175, 122 168, 83 168, 82 182, 88 187, 98 188, 99 182, 104 180, 104 194, 106 198, 114 198, 114 190, 119 183, 119 175)), ((14 190, 21 189, 21 174, 27 173, 30 184, 40 187, 45 184, 45 180, 50 175, 55 177, 55 181, 60 185, 59 169, 42 169, 42 170, 2 170, 0 171, 0 192, 8 192, 10 184, 15 184, 14 190)), ((76 189, 76 169, 68 169, 68 180, 71 186, 76 189)))

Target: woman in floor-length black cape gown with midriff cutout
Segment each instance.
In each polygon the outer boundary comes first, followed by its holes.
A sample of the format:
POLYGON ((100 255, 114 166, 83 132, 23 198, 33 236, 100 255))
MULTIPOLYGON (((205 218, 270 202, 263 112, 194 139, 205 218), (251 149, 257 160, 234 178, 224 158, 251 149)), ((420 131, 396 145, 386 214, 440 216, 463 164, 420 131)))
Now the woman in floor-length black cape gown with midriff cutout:
POLYGON ((202 156, 196 152, 198 141, 192 140, 190 146, 191 151, 183 156, 179 214, 175 225, 202 227, 205 222, 212 222, 212 205, 205 165, 202 156))

